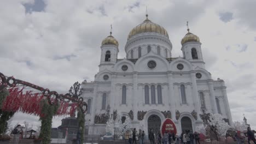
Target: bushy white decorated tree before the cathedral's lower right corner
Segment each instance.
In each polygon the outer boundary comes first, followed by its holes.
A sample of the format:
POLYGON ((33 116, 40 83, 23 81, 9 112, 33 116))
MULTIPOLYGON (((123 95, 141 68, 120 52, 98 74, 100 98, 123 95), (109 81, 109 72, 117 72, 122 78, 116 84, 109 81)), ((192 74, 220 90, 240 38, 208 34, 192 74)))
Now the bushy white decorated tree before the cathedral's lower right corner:
POLYGON ((213 125, 217 128, 218 134, 220 136, 223 136, 226 134, 226 131, 230 129, 230 125, 223 120, 222 115, 219 113, 214 113, 210 116, 211 122, 209 122, 210 125, 213 125))

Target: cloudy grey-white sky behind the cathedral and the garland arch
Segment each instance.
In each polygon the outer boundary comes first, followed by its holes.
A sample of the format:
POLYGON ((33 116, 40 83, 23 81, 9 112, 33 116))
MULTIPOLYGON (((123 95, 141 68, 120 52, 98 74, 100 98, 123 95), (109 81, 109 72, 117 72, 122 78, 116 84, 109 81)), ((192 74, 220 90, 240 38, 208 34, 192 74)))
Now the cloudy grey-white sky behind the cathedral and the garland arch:
MULTIPOLYGON (((146 17, 165 27, 172 56, 182 56, 181 39, 200 37, 206 68, 224 79, 234 121, 256 128, 256 1, 85 1, 0 0, 0 72, 66 93, 75 81, 93 81, 101 41, 113 35, 119 58, 130 30, 146 17)), ((60 125, 56 117, 53 127, 60 125)), ((13 123, 39 124, 38 117, 15 114, 13 123)))

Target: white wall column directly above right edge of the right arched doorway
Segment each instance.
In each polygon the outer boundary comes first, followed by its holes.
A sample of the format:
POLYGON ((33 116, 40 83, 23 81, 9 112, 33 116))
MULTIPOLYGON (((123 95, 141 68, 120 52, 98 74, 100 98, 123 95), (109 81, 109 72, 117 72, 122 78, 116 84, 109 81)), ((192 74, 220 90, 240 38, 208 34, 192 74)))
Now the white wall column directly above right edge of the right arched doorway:
POLYGON ((202 121, 200 116, 199 116, 199 114, 200 114, 200 103, 199 103, 199 97, 198 97, 198 92, 197 92, 195 71, 190 73, 190 77, 191 77, 191 82, 192 82, 192 94, 193 94, 193 101, 194 101, 195 111, 196 111, 196 114, 197 114, 197 121, 202 121))

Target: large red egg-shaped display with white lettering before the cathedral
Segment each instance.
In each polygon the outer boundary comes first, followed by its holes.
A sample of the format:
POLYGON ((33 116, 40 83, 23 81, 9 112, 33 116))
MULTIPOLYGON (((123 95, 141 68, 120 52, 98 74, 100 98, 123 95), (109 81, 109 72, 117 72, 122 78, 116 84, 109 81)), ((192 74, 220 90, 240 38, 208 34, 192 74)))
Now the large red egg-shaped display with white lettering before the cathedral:
POLYGON ((177 133, 177 129, 176 129, 176 125, 172 122, 172 119, 170 118, 166 118, 165 121, 161 124, 161 134, 164 135, 165 131, 167 131, 167 133, 174 133, 176 135, 177 133))

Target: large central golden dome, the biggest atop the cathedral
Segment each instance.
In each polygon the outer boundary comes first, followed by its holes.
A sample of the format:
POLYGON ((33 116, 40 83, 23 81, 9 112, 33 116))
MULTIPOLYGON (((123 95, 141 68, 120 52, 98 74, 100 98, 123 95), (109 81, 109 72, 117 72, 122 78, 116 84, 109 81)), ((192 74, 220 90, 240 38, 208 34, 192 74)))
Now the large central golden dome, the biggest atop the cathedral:
POLYGON ((169 38, 168 33, 165 30, 165 28, 163 28, 160 25, 150 21, 148 19, 148 15, 146 15, 146 16, 147 16, 146 20, 144 20, 141 24, 139 24, 135 28, 132 28, 132 30, 130 31, 127 39, 130 39, 133 35, 136 35, 136 34, 139 34, 139 33, 146 33, 146 32, 159 33, 159 34, 165 35, 167 38, 169 38))

